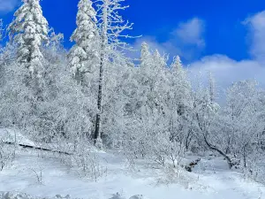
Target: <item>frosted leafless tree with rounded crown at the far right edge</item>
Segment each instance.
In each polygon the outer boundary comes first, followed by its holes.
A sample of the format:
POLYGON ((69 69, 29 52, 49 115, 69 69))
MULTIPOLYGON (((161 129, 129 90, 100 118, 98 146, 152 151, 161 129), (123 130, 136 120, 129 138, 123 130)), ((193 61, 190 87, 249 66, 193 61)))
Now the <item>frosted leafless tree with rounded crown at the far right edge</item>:
POLYGON ((264 141, 264 119, 260 91, 255 81, 244 80, 227 89, 223 118, 229 134, 225 134, 228 151, 248 167, 251 158, 261 152, 264 141), (229 135, 229 136, 227 136, 229 135))

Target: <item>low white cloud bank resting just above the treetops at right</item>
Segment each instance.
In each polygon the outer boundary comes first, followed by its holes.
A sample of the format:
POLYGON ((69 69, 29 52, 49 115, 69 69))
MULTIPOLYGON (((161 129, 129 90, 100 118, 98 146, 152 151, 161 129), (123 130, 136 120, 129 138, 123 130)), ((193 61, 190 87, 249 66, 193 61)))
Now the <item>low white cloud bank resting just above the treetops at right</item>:
POLYGON ((213 73, 220 90, 239 80, 257 80, 261 87, 265 87, 265 67, 254 60, 235 61, 223 55, 213 55, 194 62, 190 71, 192 77, 201 73, 205 81, 208 80, 208 72, 213 73))

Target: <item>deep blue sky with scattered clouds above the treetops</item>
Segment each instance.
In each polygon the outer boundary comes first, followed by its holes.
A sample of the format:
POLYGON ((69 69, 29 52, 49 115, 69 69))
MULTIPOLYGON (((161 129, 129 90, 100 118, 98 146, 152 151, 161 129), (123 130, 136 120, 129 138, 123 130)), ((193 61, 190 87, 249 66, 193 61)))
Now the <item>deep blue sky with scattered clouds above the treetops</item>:
MULTIPOLYGON (((234 80, 257 79, 265 85, 264 0, 126 0, 125 19, 134 23, 136 47, 146 41, 151 48, 178 54, 194 72, 211 71, 227 86, 234 80), (264 65, 264 66, 263 66, 264 65), (261 75, 263 74, 263 75, 261 75)), ((78 0, 42 0, 49 26, 64 34, 64 45, 75 28, 78 0)), ((5 23, 19 0, 0 0, 5 23)))

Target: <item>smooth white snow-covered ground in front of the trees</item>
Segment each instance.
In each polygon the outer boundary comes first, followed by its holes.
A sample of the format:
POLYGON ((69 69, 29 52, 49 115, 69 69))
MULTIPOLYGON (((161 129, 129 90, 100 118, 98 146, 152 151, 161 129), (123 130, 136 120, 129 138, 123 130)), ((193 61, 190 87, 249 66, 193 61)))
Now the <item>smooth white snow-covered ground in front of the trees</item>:
POLYGON ((202 158, 194 172, 183 172, 178 180, 169 182, 171 172, 151 169, 142 162, 132 171, 121 155, 111 152, 97 155, 107 172, 95 182, 80 178, 54 157, 43 158, 37 151, 21 149, 12 165, 0 172, 0 191, 86 199, 109 199, 117 192, 125 198, 145 195, 149 199, 265 199, 261 184, 230 171, 222 158, 202 158))

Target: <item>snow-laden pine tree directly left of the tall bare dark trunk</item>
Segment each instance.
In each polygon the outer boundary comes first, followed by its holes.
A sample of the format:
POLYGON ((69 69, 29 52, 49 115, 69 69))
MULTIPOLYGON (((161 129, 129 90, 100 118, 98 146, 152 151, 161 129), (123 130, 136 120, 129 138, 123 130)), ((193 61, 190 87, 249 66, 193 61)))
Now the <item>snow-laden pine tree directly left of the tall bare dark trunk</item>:
POLYGON ((82 83, 86 73, 95 71, 99 63, 98 39, 96 27, 96 12, 90 0, 80 0, 77 13, 77 28, 72 34, 71 41, 76 44, 69 53, 69 62, 75 79, 82 83))

